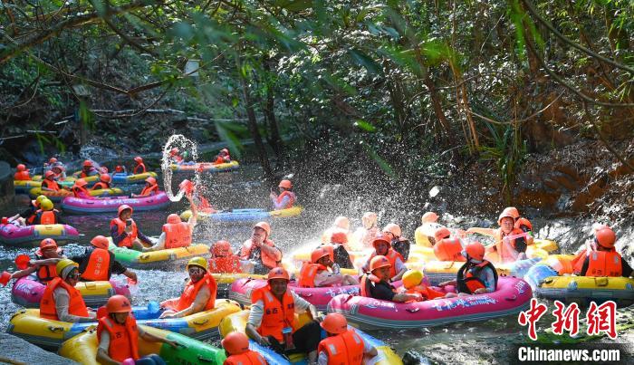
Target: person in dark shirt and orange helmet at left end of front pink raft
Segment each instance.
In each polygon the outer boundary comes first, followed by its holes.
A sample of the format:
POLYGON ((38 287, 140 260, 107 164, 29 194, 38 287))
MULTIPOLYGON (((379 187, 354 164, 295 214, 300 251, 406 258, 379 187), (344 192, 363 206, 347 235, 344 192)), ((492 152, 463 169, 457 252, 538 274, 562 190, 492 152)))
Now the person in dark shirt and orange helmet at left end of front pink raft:
POLYGON ((416 301, 418 294, 397 293, 392 286, 390 272, 392 264, 386 256, 374 256, 370 260, 370 272, 361 276, 361 296, 395 303, 416 301))

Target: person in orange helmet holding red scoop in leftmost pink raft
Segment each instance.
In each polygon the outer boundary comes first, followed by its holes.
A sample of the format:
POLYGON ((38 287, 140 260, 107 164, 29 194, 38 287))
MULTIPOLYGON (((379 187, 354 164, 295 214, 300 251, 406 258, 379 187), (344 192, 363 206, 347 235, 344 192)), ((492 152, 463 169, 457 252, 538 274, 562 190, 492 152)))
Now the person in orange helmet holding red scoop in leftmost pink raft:
POLYGON ((65 258, 66 257, 62 255, 62 249, 57 246, 53 238, 44 238, 42 242, 40 242, 40 248, 35 251, 34 260, 30 260, 28 267, 24 270, 19 270, 11 274, 9 279, 19 279, 35 273, 38 282, 48 283, 57 277, 57 263, 65 258))

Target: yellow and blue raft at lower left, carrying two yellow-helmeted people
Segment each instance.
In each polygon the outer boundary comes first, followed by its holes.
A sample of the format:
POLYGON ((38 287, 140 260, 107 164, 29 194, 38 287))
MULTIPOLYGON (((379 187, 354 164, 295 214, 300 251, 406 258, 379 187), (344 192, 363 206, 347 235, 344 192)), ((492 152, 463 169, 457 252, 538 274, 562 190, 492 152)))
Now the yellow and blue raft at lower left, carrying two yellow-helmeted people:
MULTIPOLYGON (((216 308, 182 318, 159 319, 160 311, 150 311, 149 307, 134 307, 139 312, 139 324, 172 331, 198 341, 217 337, 218 324, 227 315, 240 312, 235 302, 217 300, 216 308)), ((39 309, 25 309, 16 312, 9 322, 8 333, 23 338, 46 349, 57 349, 63 341, 78 335, 82 331, 96 326, 97 322, 71 323, 40 318, 39 309)))

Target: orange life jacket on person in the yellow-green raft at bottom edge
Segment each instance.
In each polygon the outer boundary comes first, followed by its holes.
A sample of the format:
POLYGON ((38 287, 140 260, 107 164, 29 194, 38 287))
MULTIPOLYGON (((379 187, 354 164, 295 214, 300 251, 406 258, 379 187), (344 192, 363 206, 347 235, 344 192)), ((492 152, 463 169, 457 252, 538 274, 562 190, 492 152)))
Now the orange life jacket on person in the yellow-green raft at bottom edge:
POLYGON ((103 330, 110 334, 108 356, 112 360, 139 360, 139 328, 134 317, 128 315, 125 324, 113 321, 110 316, 102 317, 97 325, 97 341, 101 341, 103 330))

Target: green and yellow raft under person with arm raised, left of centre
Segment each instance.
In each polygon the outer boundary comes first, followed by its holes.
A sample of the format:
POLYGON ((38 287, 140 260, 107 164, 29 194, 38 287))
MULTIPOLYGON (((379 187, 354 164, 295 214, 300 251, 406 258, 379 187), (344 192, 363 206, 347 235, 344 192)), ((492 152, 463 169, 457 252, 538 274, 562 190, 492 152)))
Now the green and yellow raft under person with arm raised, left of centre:
POLYGON ((117 247, 112 244, 112 238, 108 249, 114 254, 114 257, 123 266, 131 269, 160 269, 166 266, 174 266, 187 262, 194 256, 208 256, 209 246, 207 245, 189 245, 187 247, 169 248, 159 251, 139 252, 130 250, 126 247, 117 247))

